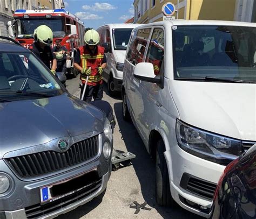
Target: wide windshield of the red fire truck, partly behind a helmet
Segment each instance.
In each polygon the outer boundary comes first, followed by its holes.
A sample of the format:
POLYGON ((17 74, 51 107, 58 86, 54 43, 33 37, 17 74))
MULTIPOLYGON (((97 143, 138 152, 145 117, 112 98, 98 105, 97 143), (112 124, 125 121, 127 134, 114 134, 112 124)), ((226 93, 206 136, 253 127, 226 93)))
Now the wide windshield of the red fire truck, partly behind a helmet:
POLYGON ((53 37, 64 37, 64 20, 62 18, 29 18, 18 19, 17 30, 18 38, 33 38, 34 30, 40 26, 46 24, 53 32, 53 37), (19 24, 20 23, 20 24, 19 24))

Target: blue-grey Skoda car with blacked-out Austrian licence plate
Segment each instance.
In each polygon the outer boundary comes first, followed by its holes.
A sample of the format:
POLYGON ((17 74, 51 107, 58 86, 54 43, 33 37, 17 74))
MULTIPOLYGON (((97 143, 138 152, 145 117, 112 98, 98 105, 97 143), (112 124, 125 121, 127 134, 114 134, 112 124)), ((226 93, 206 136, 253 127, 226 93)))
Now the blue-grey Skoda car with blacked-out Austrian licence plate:
POLYGON ((12 41, 0 41, 0 218, 52 218, 105 191, 111 125, 12 41))

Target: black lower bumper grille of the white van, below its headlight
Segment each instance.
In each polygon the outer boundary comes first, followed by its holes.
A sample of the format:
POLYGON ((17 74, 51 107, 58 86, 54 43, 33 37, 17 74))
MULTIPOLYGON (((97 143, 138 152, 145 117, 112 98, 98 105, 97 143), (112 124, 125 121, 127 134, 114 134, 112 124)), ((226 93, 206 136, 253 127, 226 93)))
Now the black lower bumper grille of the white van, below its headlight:
POLYGON ((187 173, 183 174, 180 181, 181 188, 184 188, 193 194, 205 197, 209 200, 213 199, 216 186, 217 184, 215 183, 196 178, 187 173))

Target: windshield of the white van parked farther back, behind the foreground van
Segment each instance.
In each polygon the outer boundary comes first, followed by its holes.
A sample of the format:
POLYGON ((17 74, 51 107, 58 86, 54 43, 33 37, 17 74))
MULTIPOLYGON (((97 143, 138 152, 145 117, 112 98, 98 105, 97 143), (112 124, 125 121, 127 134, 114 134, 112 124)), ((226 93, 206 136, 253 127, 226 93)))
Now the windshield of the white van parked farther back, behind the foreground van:
POLYGON ((113 29, 114 50, 126 50, 132 29, 113 29))

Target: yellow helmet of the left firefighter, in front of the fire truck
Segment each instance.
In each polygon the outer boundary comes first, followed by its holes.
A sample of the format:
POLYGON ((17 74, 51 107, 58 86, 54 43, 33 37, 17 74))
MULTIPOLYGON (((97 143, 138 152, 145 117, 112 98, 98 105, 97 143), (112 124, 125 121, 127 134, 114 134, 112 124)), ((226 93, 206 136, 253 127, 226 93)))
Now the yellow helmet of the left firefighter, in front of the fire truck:
POLYGON ((50 27, 46 25, 38 26, 37 29, 34 31, 34 39, 35 41, 39 41, 46 45, 52 44, 53 33, 50 27))

